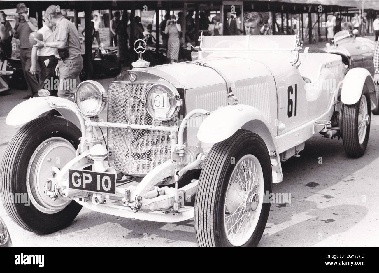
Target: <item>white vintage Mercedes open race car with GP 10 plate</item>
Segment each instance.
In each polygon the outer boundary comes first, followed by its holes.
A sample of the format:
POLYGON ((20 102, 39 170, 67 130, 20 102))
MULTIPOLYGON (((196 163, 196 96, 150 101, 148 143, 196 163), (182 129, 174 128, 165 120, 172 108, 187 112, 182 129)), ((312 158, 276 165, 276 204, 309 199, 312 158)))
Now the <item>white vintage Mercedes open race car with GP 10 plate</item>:
POLYGON ((36 233, 62 229, 82 206, 148 221, 194 218, 200 246, 257 246, 265 196, 306 140, 342 137, 349 157, 364 154, 376 107, 366 69, 299 53, 296 35, 199 41, 193 61, 149 67, 138 40, 139 60, 108 90, 88 80, 75 103, 40 90, 14 107, 6 123, 24 125, 6 149, 1 191, 27 193, 31 205, 5 202, 9 216, 36 233), (62 117, 38 117, 52 109, 62 117))

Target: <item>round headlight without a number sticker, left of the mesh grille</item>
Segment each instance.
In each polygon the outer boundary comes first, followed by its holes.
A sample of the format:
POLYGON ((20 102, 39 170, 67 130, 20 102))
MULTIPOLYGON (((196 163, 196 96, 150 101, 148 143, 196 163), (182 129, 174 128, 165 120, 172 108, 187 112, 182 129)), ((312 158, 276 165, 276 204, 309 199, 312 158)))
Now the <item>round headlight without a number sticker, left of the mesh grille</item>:
POLYGON ((100 83, 87 80, 77 86, 74 100, 79 112, 90 117, 104 110, 108 96, 100 83))

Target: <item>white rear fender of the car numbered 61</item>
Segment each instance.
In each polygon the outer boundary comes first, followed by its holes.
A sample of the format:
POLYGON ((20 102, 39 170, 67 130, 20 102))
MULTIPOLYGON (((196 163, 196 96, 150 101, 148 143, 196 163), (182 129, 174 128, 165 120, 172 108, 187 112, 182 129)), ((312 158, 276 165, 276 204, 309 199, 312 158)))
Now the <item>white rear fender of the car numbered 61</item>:
POLYGON ((346 73, 341 89, 341 102, 347 105, 359 102, 365 84, 371 97, 371 110, 374 110, 377 107, 374 81, 370 72, 362 67, 350 69, 346 73))

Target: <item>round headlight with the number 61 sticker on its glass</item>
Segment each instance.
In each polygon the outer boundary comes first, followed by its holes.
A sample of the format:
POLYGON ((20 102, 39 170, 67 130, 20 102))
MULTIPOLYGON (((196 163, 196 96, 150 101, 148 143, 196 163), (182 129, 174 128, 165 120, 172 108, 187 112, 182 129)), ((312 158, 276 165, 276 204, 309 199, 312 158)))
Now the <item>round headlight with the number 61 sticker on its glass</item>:
POLYGON ((168 121, 178 113, 182 100, 174 86, 158 83, 147 90, 145 104, 150 116, 160 121, 168 121))

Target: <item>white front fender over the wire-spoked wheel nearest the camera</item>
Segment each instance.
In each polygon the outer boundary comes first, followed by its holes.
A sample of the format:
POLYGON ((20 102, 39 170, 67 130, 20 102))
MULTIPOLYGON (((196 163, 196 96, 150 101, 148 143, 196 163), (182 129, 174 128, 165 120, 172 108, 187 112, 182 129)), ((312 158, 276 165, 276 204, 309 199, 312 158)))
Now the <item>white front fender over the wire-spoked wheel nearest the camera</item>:
POLYGON ((268 148, 273 169, 273 183, 283 180, 276 131, 257 108, 244 105, 228 105, 213 111, 200 124, 197 138, 204 143, 217 143, 231 137, 238 129, 257 133, 268 148))

